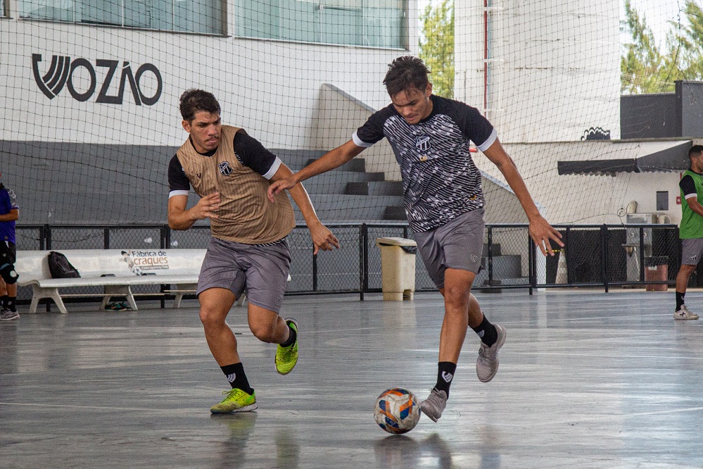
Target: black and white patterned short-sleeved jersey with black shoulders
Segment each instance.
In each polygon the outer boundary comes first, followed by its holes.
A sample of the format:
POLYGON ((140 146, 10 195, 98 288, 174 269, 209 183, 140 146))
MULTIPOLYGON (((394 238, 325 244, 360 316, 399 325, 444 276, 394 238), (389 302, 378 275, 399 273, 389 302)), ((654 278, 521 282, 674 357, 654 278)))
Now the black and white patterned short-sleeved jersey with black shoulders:
POLYGON ((400 165, 405 213, 414 232, 431 230, 483 206, 481 173, 469 145, 474 142, 484 151, 497 138, 478 109, 441 96, 430 99, 431 114, 417 124, 408 124, 391 104, 352 135, 363 147, 388 139, 400 165))

